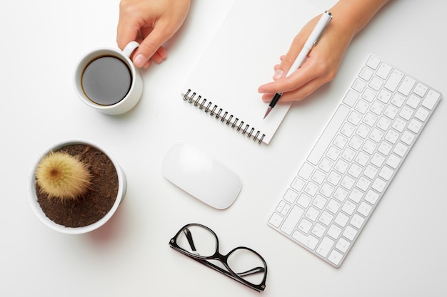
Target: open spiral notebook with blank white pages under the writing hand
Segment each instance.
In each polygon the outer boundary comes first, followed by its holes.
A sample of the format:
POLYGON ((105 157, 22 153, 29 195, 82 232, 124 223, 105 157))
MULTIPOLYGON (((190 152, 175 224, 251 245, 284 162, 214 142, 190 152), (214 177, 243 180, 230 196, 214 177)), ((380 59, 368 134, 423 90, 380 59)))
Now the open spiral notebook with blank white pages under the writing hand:
POLYGON ((236 0, 181 90, 186 103, 259 143, 268 144, 291 103, 268 103, 258 87, 293 38, 321 9, 303 0, 236 0))

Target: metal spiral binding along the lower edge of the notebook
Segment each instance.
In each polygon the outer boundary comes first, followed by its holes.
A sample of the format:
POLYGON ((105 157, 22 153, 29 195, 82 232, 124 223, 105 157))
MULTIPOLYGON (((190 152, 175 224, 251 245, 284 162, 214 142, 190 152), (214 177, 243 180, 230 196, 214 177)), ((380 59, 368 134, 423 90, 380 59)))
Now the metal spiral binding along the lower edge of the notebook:
POLYGON ((219 108, 219 106, 217 106, 216 104, 213 105, 211 101, 207 100, 206 98, 202 98, 201 95, 198 95, 195 92, 189 95, 191 92, 192 90, 188 89, 186 94, 181 94, 184 101, 188 101, 188 103, 194 104, 194 106, 199 107, 200 110, 204 110, 205 113, 209 113, 209 115, 214 116, 216 119, 220 118, 222 123, 226 122, 226 125, 231 124, 230 127, 236 127, 236 131, 242 130, 242 135, 246 135, 246 133, 248 133, 248 138, 253 137, 253 141, 258 140, 258 143, 261 144, 263 138, 266 136, 265 134, 261 135, 261 131, 256 131, 254 127, 251 127, 250 129, 250 125, 248 124, 245 124, 244 126, 243 120, 240 121, 238 118, 233 117, 233 115, 230 115, 227 111, 219 108), (248 129, 250 129, 250 131, 248 131, 248 129), (260 135, 261 137, 259 137, 260 135))

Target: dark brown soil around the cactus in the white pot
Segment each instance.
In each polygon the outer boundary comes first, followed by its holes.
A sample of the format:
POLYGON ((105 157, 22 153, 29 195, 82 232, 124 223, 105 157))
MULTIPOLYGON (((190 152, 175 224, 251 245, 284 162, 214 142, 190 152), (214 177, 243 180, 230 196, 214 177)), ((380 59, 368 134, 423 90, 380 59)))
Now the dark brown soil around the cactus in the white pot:
POLYGON ((91 189, 73 201, 48 198, 36 183, 37 201, 51 221, 67 226, 81 227, 93 224, 114 205, 118 193, 118 174, 114 164, 103 152, 89 145, 68 145, 61 151, 78 156, 92 175, 91 189))

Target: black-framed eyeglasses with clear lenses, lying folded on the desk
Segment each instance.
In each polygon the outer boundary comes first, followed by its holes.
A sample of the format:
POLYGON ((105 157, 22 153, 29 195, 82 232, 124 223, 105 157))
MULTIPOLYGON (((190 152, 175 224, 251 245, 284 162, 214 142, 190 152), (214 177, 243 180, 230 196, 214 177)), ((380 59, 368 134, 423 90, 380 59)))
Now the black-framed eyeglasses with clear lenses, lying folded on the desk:
POLYGON ((169 246, 253 290, 266 288, 267 264, 262 256, 245 246, 220 254, 219 239, 207 226, 187 224, 169 241, 169 246), (223 266, 209 260, 217 260, 223 266))

